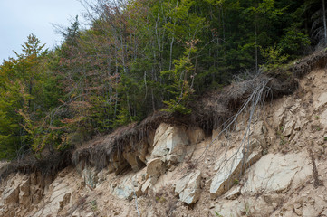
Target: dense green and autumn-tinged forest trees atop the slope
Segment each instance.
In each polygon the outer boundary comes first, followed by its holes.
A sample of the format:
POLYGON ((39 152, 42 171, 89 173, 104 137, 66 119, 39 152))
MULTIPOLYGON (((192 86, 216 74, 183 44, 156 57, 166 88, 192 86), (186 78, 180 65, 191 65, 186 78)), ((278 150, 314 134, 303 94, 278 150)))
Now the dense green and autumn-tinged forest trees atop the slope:
POLYGON ((42 158, 151 112, 188 114, 242 71, 327 43, 324 0, 83 0, 53 50, 34 34, 0 66, 0 158, 42 158))

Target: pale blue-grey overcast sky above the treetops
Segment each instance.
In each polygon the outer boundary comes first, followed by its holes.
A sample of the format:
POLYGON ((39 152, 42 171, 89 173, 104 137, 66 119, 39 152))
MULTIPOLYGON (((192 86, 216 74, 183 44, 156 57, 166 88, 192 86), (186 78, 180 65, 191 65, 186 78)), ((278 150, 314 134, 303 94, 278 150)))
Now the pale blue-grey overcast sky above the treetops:
MULTIPOLYGON (((21 53, 30 33, 52 49, 62 40, 53 24, 70 26, 83 6, 77 0, 0 0, 0 64, 21 53)), ((82 20, 82 19, 81 19, 82 20)))

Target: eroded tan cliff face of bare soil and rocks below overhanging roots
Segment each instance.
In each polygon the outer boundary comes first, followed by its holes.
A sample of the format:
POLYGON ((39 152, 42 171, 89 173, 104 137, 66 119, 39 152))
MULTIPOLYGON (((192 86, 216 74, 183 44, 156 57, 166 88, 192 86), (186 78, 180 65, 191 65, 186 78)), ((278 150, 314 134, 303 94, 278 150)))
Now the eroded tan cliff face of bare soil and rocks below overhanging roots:
POLYGON ((210 137, 161 123, 100 171, 81 158, 54 178, 10 175, 0 216, 327 216, 325 71, 249 119, 210 137))

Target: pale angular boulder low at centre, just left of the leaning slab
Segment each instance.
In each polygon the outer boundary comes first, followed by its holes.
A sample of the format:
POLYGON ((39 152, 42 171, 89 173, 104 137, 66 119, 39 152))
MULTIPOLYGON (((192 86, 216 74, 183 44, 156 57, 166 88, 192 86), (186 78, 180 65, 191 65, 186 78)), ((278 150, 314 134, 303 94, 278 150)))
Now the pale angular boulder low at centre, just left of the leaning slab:
POLYGON ((200 197, 200 183, 200 171, 196 171, 180 179, 175 187, 175 193, 178 193, 179 200, 188 204, 197 203, 200 197))

